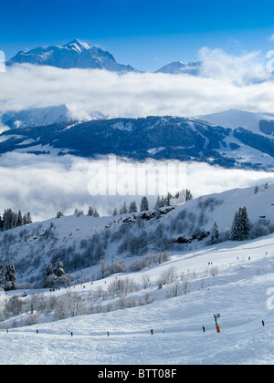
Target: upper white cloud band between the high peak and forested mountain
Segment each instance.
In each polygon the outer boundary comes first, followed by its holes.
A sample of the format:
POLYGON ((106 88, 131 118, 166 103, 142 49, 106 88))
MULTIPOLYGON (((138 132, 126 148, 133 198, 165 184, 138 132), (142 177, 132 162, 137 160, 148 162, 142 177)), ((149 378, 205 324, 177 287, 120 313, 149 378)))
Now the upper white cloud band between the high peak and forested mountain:
POLYGON ((99 110, 110 118, 196 116, 226 109, 272 111, 274 87, 258 52, 234 57, 203 48, 203 78, 56 67, 8 67, 0 110, 67 104, 73 116, 99 110), (255 83, 254 83, 255 82, 255 83))

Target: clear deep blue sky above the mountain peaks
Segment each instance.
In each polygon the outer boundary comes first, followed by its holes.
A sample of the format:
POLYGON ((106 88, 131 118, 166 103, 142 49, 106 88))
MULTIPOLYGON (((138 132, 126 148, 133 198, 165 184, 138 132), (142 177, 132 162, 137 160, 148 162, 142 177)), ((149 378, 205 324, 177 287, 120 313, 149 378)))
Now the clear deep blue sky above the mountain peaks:
POLYGON ((0 0, 0 49, 10 58, 79 38, 117 61, 156 70, 198 58, 201 47, 229 54, 274 49, 273 1, 0 0))

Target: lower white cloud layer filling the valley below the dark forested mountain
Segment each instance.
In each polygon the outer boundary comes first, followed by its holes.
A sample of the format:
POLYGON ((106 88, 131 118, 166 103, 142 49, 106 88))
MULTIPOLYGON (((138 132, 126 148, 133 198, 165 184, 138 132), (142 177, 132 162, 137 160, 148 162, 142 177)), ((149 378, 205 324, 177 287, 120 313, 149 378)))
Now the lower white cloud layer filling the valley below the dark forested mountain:
POLYGON ((12 152, 1 156, 0 212, 9 207, 21 209, 32 212, 36 221, 43 221, 59 211, 70 215, 78 208, 87 213, 92 205, 100 215, 110 215, 123 202, 129 206, 134 200, 140 206, 145 189, 153 208, 158 191, 165 195, 166 191, 188 188, 198 197, 265 182, 273 183, 274 174, 225 170, 198 162, 179 167, 177 161, 170 160, 139 163, 117 158, 113 167, 109 158, 87 160, 12 152))

